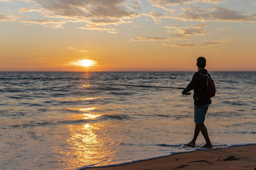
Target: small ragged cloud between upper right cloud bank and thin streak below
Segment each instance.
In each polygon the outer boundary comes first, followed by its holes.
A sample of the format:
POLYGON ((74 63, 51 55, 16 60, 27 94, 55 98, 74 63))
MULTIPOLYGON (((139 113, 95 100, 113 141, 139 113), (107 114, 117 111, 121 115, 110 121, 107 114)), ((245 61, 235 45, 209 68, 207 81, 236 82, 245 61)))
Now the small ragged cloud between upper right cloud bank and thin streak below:
POLYGON ((199 24, 199 25, 189 25, 186 27, 182 26, 174 26, 174 27, 166 27, 169 33, 174 33, 173 36, 193 36, 193 35, 206 35, 210 32, 205 31, 205 27, 209 24, 199 24))

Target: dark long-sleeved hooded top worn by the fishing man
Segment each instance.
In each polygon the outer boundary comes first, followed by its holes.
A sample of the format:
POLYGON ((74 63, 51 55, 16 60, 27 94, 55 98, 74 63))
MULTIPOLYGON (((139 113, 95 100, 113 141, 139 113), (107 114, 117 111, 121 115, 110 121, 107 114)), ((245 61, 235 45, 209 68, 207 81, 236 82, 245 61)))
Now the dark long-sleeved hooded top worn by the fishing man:
POLYGON ((183 90, 183 93, 187 93, 191 90, 194 90, 194 104, 199 105, 205 105, 205 104, 211 104, 212 101, 205 97, 204 92, 207 85, 207 75, 208 71, 205 69, 197 71, 191 80, 191 82, 188 84, 188 86, 183 90), (204 75, 201 75, 201 74, 204 75))

